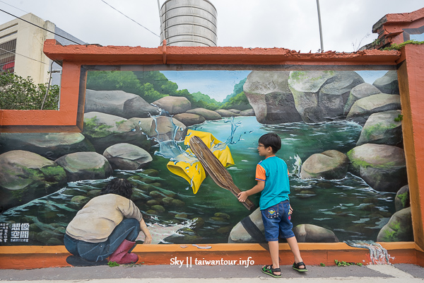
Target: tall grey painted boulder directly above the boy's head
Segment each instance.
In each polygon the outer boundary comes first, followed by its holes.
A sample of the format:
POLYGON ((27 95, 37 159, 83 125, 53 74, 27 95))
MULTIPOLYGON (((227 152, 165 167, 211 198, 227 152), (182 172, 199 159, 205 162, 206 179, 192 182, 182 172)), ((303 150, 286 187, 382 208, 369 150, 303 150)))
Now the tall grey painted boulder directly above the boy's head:
POLYGON ((252 71, 243 86, 258 122, 280 124, 300 122, 293 94, 288 87, 289 71, 252 71))

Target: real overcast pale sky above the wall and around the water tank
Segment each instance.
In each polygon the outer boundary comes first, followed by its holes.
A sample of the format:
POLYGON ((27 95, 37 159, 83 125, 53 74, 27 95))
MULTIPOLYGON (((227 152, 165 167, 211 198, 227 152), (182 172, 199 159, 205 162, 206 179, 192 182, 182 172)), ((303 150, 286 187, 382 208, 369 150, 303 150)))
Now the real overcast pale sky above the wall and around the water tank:
MULTIPOLYGON (((320 47, 316 0, 210 0, 218 11, 218 45, 283 47, 317 52, 320 47)), ((16 16, 34 13, 67 33, 100 45, 158 47, 157 0, 0 0, 16 16)), ((160 0, 162 5, 165 0, 160 0)), ((387 13, 423 8, 423 0, 319 1, 324 50, 353 52, 377 38, 372 25, 387 13)), ((0 11, 0 23, 14 19, 0 11)))

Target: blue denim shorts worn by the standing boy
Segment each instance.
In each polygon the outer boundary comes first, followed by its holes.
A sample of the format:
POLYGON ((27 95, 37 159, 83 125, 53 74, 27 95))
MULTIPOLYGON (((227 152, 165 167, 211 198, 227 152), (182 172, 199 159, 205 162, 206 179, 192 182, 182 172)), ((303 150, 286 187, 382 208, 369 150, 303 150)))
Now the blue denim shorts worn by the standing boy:
POLYGON ((285 200, 272 207, 261 210, 266 241, 278 241, 278 235, 280 235, 281 238, 291 238, 295 236, 292 231, 293 224, 288 214, 290 212, 289 207, 290 203, 288 200, 285 200))

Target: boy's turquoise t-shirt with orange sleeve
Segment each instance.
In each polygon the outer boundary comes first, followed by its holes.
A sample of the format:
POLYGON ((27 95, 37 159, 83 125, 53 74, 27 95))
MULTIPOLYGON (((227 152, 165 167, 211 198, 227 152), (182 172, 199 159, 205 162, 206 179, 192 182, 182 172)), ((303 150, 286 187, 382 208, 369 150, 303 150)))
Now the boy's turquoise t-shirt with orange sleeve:
POLYGON ((288 183, 287 164, 277 156, 269 156, 257 165, 255 180, 265 182, 259 199, 260 209, 267 209, 279 202, 288 200, 290 185, 288 183))

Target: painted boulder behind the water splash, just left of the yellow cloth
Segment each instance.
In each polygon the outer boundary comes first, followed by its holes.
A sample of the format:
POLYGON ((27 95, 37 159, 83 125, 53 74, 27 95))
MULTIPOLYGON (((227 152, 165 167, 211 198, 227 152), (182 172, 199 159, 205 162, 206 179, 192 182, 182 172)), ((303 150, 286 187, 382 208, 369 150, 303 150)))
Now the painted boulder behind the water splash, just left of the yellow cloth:
POLYGON ((131 118, 129 119, 134 124, 138 125, 141 132, 147 134, 149 138, 157 139, 158 141, 168 141, 174 139, 179 141, 184 139, 187 134, 187 127, 174 117, 158 116, 150 118, 131 118), (175 131, 178 127, 177 131, 175 131))

